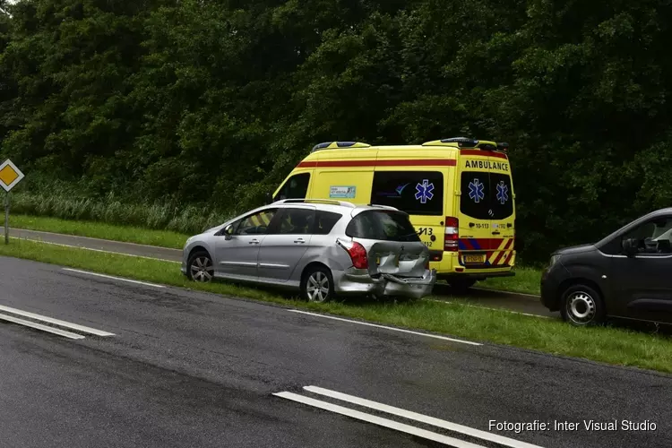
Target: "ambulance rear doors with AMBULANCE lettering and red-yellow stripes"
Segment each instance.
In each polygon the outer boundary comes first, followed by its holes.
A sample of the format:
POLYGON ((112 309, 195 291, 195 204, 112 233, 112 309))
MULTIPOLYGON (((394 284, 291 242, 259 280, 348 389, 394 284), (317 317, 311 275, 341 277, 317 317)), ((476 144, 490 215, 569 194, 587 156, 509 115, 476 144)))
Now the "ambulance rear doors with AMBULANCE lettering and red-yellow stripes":
POLYGON ((508 165, 503 153, 461 150, 457 179, 461 194, 456 208, 460 263, 466 268, 504 267, 513 250, 513 237, 504 238, 513 236, 513 190, 508 165), (512 247, 503 247, 507 244, 512 247))

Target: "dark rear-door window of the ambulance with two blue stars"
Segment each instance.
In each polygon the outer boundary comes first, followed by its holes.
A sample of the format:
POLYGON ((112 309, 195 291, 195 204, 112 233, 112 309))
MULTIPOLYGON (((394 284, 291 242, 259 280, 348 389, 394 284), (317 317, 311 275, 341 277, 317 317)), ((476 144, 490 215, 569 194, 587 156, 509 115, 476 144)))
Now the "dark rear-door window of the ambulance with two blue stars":
POLYGON ((504 220, 513 214, 509 175, 463 171, 460 190, 460 211, 475 220, 504 220))

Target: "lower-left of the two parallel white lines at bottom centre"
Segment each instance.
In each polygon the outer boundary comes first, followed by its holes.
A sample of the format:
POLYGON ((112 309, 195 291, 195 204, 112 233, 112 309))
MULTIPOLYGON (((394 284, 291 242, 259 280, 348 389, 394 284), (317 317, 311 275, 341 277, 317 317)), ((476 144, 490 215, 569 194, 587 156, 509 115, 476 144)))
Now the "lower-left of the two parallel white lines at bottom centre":
POLYGON ((340 414, 342 416, 347 416, 349 418, 357 418, 358 420, 394 429, 395 431, 401 431, 402 433, 417 435, 418 437, 433 440, 434 442, 438 442, 440 444, 447 444, 454 448, 485 448, 482 445, 471 444, 470 442, 464 442, 460 439, 449 437, 448 435, 433 433, 431 431, 427 431, 426 429, 420 429, 415 426, 404 425, 403 423, 398 423, 395 422, 394 420, 376 417, 374 415, 366 414, 366 412, 360 412, 355 409, 344 408, 342 406, 332 404, 327 401, 314 400, 312 398, 304 397, 303 395, 298 395, 297 393, 277 392, 273 393, 273 395, 287 400, 297 401, 298 403, 306 404, 308 406, 313 406, 314 408, 329 410, 331 412, 340 414))

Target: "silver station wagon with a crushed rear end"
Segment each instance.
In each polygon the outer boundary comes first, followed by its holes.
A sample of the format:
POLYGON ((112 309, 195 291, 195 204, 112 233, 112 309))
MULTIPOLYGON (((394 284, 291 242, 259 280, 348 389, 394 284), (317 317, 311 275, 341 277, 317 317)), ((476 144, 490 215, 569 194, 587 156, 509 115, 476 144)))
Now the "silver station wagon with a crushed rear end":
POLYGON ((408 214, 332 200, 273 202, 190 237, 182 272, 191 280, 242 280, 336 296, 420 298, 436 273, 408 214))

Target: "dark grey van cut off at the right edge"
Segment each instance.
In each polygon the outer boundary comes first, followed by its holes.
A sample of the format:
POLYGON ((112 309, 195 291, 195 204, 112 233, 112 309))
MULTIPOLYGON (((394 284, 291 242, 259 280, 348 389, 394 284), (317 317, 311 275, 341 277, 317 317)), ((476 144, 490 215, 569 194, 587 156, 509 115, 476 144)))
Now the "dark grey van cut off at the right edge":
POLYGON ((672 208, 634 220, 594 245, 556 251, 541 302, 574 325, 607 316, 672 323, 672 208))

